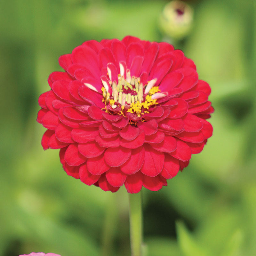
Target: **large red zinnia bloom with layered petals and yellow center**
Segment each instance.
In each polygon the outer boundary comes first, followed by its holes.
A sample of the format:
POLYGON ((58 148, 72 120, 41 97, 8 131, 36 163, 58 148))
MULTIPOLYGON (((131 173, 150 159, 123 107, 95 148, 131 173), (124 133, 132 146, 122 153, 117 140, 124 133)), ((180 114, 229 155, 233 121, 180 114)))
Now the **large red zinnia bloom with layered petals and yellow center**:
POLYGON ((39 97, 42 146, 60 148, 64 170, 87 185, 159 190, 212 136, 210 86, 170 44, 91 40, 59 64, 39 97))

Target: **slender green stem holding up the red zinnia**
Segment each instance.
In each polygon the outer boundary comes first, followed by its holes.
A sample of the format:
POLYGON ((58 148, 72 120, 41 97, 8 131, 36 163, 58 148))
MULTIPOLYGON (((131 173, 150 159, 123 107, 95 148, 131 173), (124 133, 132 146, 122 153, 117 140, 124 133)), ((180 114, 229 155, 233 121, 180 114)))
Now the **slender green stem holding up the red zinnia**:
POLYGON ((142 215, 141 193, 129 194, 130 238, 132 256, 141 256, 142 215))

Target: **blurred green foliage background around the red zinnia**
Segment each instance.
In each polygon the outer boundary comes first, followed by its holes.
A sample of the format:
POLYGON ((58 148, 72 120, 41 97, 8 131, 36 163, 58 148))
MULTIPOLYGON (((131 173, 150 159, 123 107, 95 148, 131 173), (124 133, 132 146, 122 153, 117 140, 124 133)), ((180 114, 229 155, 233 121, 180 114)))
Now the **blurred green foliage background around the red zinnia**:
MULTIPOLYGON (((256 255, 256 1, 186 1, 190 35, 173 41, 212 87, 213 136, 158 192, 142 190, 148 256, 256 255)), ((128 196, 69 177, 43 151, 38 96, 58 57, 86 40, 168 38, 168 1, 0 2, 0 255, 130 254, 128 196)))

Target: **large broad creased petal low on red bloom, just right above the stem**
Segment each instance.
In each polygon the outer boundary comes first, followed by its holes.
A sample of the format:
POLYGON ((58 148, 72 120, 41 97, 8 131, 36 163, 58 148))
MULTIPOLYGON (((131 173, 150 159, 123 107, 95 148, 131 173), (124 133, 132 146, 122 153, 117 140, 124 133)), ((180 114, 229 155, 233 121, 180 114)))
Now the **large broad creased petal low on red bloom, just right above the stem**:
POLYGON ((164 153, 151 147, 145 148, 145 161, 140 169, 147 176, 155 177, 164 166, 164 153))

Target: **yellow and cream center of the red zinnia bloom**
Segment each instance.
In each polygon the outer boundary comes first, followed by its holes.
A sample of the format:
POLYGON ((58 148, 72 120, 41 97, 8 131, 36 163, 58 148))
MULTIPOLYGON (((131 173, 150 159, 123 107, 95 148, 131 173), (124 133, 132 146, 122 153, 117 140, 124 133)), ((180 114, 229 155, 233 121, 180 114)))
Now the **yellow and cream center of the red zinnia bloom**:
POLYGON ((101 88, 103 95, 102 102, 106 105, 106 112, 109 113, 111 108, 115 110, 118 107, 121 107, 121 113, 123 113, 123 110, 137 116, 149 113, 149 107, 158 104, 156 102, 157 95, 152 98, 154 94, 160 92, 158 86, 154 86, 155 83, 156 79, 153 79, 148 81, 147 84, 142 84, 140 78, 135 76, 131 77, 130 71, 127 69, 126 79, 119 74, 117 83, 116 81, 109 81, 109 84, 112 87, 111 95, 107 92, 105 87, 101 88), (111 108, 107 108, 107 106, 111 106, 111 108))

